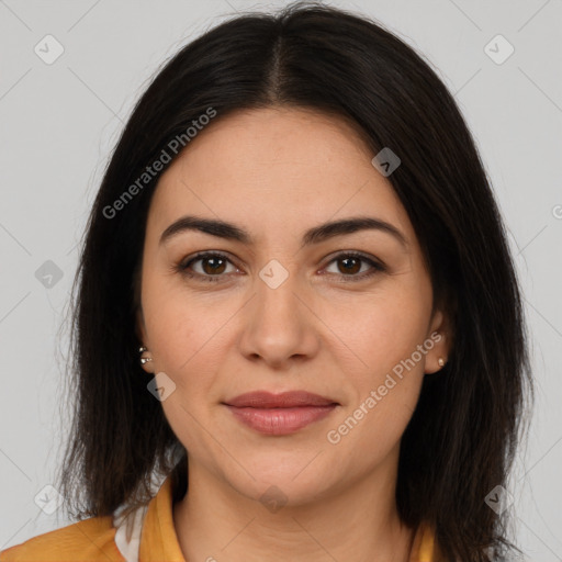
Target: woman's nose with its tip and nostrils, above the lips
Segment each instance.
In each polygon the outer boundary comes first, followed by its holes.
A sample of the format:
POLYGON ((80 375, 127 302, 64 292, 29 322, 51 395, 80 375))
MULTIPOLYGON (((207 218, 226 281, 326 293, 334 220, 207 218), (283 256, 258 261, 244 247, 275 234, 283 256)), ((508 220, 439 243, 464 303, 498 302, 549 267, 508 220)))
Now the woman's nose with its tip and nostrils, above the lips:
POLYGON ((318 325, 311 293, 296 274, 277 288, 256 279, 256 294, 244 311, 240 350, 251 360, 261 360, 286 371, 295 362, 311 359, 319 347, 318 325), (299 286, 301 285, 301 286, 299 286))

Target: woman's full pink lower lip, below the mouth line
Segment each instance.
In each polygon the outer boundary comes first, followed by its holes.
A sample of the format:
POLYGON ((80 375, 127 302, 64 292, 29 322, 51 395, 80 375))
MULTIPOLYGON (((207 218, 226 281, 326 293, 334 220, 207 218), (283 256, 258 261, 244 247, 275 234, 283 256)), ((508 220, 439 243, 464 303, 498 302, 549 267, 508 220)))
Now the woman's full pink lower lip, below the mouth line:
POLYGON ((243 424, 260 434, 289 435, 328 416, 335 409, 336 404, 294 408, 254 408, 228 405, 227 407, 243 424))

